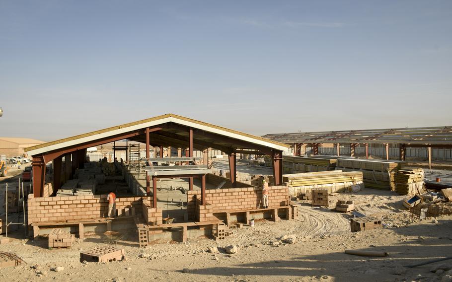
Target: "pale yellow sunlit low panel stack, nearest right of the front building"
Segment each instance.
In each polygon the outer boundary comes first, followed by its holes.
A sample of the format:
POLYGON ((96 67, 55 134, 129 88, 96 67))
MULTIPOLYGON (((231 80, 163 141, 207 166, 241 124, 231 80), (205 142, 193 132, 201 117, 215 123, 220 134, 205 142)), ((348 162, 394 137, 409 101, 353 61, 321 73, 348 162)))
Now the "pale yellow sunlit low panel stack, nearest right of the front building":
POLYGON ((291 195, 309 193, 316 188, 326 188, 328 193, 352 191, 352 187, 364 188, 363 173, 360 171, 320 171, 283 175, 284 185, 291 195))

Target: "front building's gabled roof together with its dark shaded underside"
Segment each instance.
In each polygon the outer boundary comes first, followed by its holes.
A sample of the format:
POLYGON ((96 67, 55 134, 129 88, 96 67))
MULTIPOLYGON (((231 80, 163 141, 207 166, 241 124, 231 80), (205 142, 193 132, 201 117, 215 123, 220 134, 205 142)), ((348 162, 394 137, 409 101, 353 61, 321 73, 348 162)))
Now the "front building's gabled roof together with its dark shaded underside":
POLYGON ((192 128, 193 147, 194 149, 199 150, 211 147, 225 152, 233 152, 240 149, 274 149, 282 151, 289 147, 289 145, 278 141, 267 140, 262 137, 174 114, 166 114, 151 119, 36 145, 26 148, 25 150, 28 151, 29 155, 36 155, 55 150, 63 150, 80 144, 92 144, 96 140, 103 140, 116 136, 119 137, 128 132, 137 132, 137 135, 127 138, 128 140, 146 143, 146 134, 144 131, 146 128, 154 129, 153 131, 151 130, 150 133, 150 145, 152 146, 187 148, 189 146, 189 129, 192 128))

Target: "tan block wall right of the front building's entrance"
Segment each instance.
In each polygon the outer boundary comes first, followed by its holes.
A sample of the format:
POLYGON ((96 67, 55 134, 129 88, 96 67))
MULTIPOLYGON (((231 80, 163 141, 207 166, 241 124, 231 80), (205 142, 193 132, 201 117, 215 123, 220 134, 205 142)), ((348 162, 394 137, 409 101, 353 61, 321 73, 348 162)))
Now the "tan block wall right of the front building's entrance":
MULTIPOLYGON (((269 208, 289 205, 288 187, 270 186, 269 188, 269 208)), ((187 212, 189 218, 196 214, 196 203, 200 199, 201 191, 187 191, 187 212)), ((256 187, 206 190, 206 202, 212 206, 212 212, 259 209, 262 207, 261 201, 262 190, 256 187)))

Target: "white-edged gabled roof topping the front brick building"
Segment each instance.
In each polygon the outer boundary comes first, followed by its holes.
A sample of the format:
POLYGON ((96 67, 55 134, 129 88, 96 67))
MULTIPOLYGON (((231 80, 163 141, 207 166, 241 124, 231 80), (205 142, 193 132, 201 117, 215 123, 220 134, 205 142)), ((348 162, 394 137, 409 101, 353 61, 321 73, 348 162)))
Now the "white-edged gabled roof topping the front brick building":
MULTIPOLYGON (((243 148, 243 141, 248 142, 250 144, 256 144, 259 146, 268 147, 271 149, 276 149, 280 151, 285 151, 287 148, 290 147, 290 145, 278 142, 278 141, 272 141, 268 140, 262 137, 254 136, 251 134, 239 132, 232 129, 227 129, 225 127, 193 120, 190 118, 174 115, 174 114, 165 114, 157 117, 153 117, 150 119, 145 119, 137 122, 127 123, 115 127, 110 127, 98 131, 93 131, 81 135, 77 135, 74 137, 69 137, 61 140, 51 141, 43 144, 39 144, 36 146, 28 147, 25 149, 25 151, 28 152, 29 155, 37 155, 41 153, 50 152, 53 150, 62 149, 69 146, 74 146, 77 144, 82 144, 98 139, 108 138, 112 136, 117 136, 119 134, 131 132, 131 131, 137 131, 140 129, 145 129, 152 126, 158 126, 162 124, 167 123, 174 123, 178 124, 184 127, 190 127, 193 129, 197 129, 200 132, 206 132, 211 133, 215 136, 218 136, 219 139, 221 137, 225 137, 227 141, 222 140, 215 140, 215 138, 211 137, 205 137, 202 133, 194 136, 194 140, 199 140, 199 143, 213 143, 217 144, 219 147, 230 147, 230 148, 243 148), (237 142, 234 142, 237 141, 237 142)), ((158 135, 159 132, 154 132, 153 137, 151 137, 152 140, 158 140, 152 141, 154 145, 177 145, 177 144, 185 144, 185 136, 188 134, 186 132, 179 132, 174 131, 173 129, 165 130, 166 135, 160 136, 158 135)), ((143 141, 143 138, 135 138, 132 140, 136 141, 143 141)), ((221 149, 217 147, 217 149, 221 149)), ((245 146, 246 147, 246 146, 245 146)), ((215 147, 214 147, 215 148, 215 147)))

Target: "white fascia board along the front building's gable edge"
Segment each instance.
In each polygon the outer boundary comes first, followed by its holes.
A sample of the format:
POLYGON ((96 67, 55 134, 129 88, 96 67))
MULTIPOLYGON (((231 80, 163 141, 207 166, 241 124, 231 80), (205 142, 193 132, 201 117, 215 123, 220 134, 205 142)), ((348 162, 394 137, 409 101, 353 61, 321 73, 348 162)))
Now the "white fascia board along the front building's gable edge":
POLYGON ((263 141, 263 140, 258 140, 258 139, 250 138, 250 137, 239 135, 239 134, 235 134, 235 133, 230 133, 230 132, 227 132, 227 131, 224 131, 224 130, 220 130, 220 129, 217 129, 217 128, 212 128, 212 127, 209 127, 209 126, 205 126, 205 125, 201 125, 201 124, 198 124, 198 123, 193 123, 193 122, 189 122, 189 121, 185 121, 185 120, 180 120, 180 119, 174 118, 174 117, 167 117, 167 118, 163 118, 163 119, 160 119, 160 120, 151 121, 151 122, 148 122, 148 123, 138 124, 138 125, 134 125, 134 126, 130 126, 130 127, 125 127, 125 128, 121 128, 121 129, 116 129, 116 130, 112 130, 112 131, 96 134, 96 135, 83 137, 83 138, 80 138, 80 139, 75 139, 75 140, 71 140, 71 141, 66 141, 66 142, 50 145, 50 146, 47 146, 47 147, 38 148, 38 149, 35 149, 35 150, 28 151, 27 153, 28 153, 28 155, 33 156, 33 155, 45 153, 45 152, 48 152, 48 151, 53 151, 53 150, 57 150, 57 149, 61 149, 61 148, 65 148, 65 147, 69 147, 69 146, 73 146, 73 145, 78 145, 80 143, 94 141, 94 140, 98 140, 98 139, 102 139, 102 138, 107 138, 107 137, 111 137, 111 136, 114 136, 114 135, 127 133, 127 132, 134 131, 134 130, 140 130, 140 129, 143 129, 143 128, 152 127, 152 126, 156 126, 156 125, 160 125, 160 124, 164 124, 164 123, 168 123, 168 122, 174 122, 174 123, 177 123, 177 124, 180 124, 180 125, 184 125, 184 126, 188 126, 188 127, 204 130, 204 131, 215 133, 215 134, 218 134, 218 135, 227 136, 227 137, 230 137, 230 138, 233 138, 233 139, 238 139, 238 140, 242 140, 242 141, 247 141, 247 142, 259 144, 259 145, 270 147, 270 148, 277 149, 277 150, 280 150, 280 151, 286 151, 287 150, 287 147, 280 146, 280 145, 277 145, 277 144, 274 144, 274 143, 271 143, 271 142, 266 142, 266 141, 263 141))

